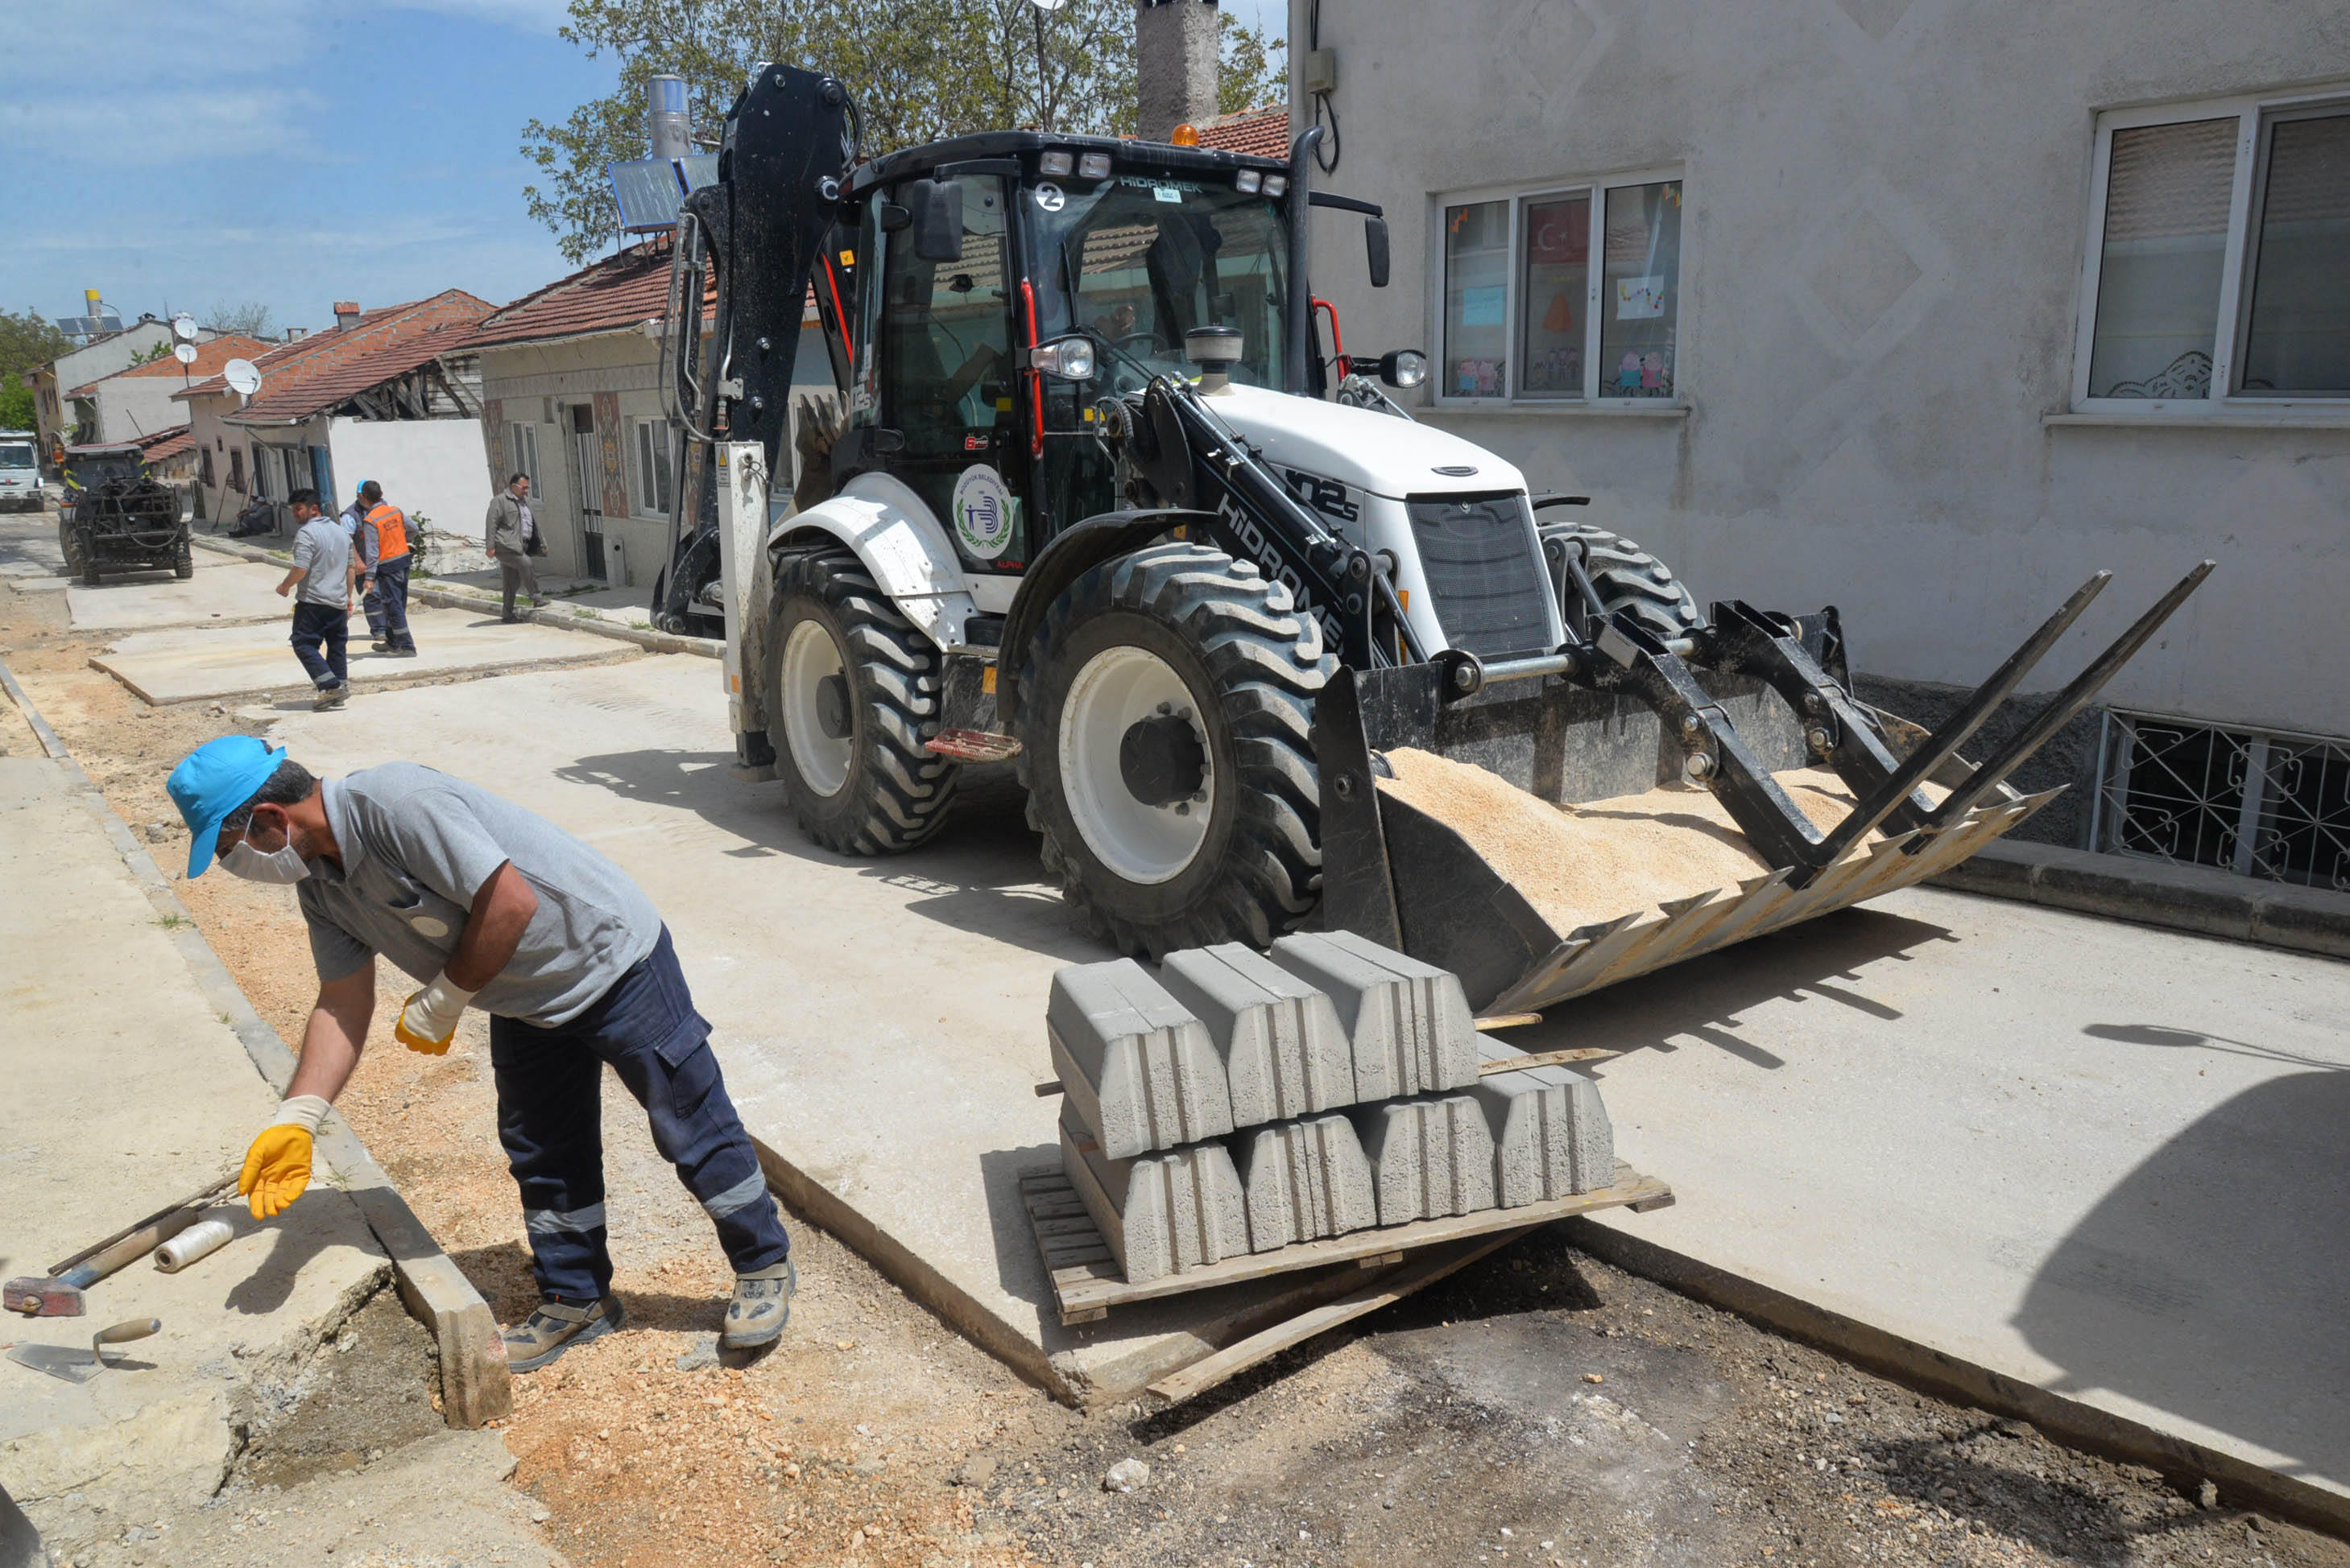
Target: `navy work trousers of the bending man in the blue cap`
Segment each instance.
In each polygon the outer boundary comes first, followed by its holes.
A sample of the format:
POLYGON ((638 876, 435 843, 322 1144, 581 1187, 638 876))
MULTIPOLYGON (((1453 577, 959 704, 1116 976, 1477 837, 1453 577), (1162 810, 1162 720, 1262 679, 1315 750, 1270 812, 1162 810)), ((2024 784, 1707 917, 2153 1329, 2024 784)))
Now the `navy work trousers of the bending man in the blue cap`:
POLYGON ((750 1134, 726 1099, 710 1023, 677 967, 670 930, 588 1012, 559 1028, 491 1016, 498 1141, 522 1185, 538 1291, 571 1303, 611 1289, 604 1246, 604 1063, 653 1122, 653 1148, 717 1225, 738 1275, 792 1251, 750 1134))

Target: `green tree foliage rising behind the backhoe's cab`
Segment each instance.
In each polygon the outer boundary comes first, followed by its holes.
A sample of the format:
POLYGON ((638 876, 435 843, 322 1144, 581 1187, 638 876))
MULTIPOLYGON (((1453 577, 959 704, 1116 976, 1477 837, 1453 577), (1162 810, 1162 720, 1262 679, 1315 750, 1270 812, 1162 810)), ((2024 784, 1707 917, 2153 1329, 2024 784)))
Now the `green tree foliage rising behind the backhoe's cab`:
MULTIPOLYGON (((1069 0, 1050 14, 1027 0, 571 0, 562 35, 618 66, 609 96, 522 129, 540 171, 524 207, 573 263, 618 230, 604 167, 644 157, 644 82, 660 73, 686 77, 705 138, 759 61, 839 75, 865 122, 865 157, 1022 124, 1135 129, 1133 0, 1069 0)), ((1262 40, 1257 49, 1262 63, 1262 40)))

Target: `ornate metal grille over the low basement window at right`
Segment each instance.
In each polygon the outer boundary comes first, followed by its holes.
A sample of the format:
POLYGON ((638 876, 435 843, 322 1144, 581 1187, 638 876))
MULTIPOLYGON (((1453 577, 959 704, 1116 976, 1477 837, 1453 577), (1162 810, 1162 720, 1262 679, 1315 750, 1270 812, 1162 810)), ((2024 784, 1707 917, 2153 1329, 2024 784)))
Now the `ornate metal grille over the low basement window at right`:
POLYGON ((2108 711, 2094 843, 2350 892, 2350 739, 2108 711))

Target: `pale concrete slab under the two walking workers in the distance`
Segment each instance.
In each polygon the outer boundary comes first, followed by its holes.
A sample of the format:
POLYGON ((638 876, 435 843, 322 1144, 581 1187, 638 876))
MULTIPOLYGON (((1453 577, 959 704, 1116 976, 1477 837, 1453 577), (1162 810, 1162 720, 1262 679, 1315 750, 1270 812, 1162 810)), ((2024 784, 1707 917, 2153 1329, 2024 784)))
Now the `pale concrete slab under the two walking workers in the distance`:
MULTIPOLYGON (((212 570, 226 568, 214 566, 212 570)), ((202 573, 197 577, 202 580, 202 573)), ((416 631, 418 657, 392 660, 367 650, 367 622, 360 615, 352 615, 350 624, 357 631, 350 653, 350 683, 360 690, 385 681, 430 681, 432 676, 477 676, 627 657, 602 636, 536 624, 505 627, 496 615, 470 610, 416 608, 409 613, 409 627, 416 631)), ((134 631, 92 664, 153 704, 310 690, 308 676, 294 660, 294 648, 287 646, 287 629, 289 620, 134 631)))

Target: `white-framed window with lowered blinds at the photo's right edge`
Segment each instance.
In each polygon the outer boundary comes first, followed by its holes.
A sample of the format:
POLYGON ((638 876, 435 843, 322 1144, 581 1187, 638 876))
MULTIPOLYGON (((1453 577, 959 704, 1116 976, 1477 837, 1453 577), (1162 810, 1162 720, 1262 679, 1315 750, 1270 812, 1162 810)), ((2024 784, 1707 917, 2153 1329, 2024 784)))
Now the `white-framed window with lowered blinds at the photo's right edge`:
POLYGON ((2350 92, 2099 117, 2073 399, 2350 399, 2350 92))

